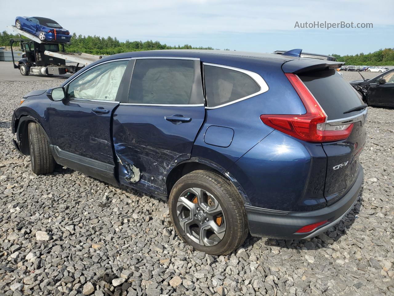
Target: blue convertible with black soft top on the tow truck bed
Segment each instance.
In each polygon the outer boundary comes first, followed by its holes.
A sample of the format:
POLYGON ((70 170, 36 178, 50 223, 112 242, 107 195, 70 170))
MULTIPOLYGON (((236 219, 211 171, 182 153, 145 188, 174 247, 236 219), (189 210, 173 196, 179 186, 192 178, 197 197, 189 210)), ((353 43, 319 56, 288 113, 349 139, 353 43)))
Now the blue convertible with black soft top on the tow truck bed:
POLYGON ((16 17, 15 26, 19 30, 24 30, 41 41, 66 43, 71 39, 69 30, 65 30, 56 21, 45 17, 16 17))

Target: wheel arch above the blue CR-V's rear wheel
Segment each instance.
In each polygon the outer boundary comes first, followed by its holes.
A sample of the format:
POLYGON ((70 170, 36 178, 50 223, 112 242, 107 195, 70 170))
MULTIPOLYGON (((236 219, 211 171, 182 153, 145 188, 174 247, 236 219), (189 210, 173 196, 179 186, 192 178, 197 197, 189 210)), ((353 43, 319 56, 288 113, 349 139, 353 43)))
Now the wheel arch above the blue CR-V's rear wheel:
POLYGON ((184 175, 193 172, 195 170, 209 170, 216 172, 221 175, 223 178, 230 181, 230 183, 237 189, 238 193, 241 195, 245 204, 250 204, 249 198, 247 197, 245 191, 242 186, 238 183, 238 181, 223 167, 210 161, 209 159, 204 159, 201 157, 191 157, 185 161, 178 163, 171 171, 168 172, 165 184, 167 189, 167 194, 169 195, 171 189, 175 185, 175 183, 184 175))

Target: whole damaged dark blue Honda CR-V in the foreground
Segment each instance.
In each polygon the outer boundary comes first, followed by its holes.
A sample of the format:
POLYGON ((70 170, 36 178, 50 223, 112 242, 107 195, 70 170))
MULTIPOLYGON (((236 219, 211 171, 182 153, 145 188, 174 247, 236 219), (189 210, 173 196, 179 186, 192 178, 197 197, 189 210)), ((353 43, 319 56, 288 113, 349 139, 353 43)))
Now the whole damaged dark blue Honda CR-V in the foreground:
POLYGON ((301 239, 351 210, 366 106, 338 62, 229 51, 109 56, 22 98, 15 147, 35 174, 56 163, 167 199, 195 249, 254 236, 301 239))

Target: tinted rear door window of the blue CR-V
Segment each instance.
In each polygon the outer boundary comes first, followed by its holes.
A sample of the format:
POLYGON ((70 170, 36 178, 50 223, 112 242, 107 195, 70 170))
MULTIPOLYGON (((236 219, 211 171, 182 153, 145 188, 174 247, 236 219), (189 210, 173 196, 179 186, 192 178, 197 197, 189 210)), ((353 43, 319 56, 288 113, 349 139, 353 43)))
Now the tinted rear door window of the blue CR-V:
POLYGON ((190 104, 193 81, 193 60, 136 60, 128 103, 190 104))

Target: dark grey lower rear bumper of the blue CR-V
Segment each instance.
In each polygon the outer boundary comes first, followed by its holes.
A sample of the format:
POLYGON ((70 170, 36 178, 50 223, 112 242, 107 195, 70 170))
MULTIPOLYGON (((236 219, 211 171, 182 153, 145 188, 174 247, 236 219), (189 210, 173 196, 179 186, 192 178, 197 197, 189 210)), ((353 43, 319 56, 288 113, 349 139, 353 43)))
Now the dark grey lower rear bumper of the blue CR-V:
POLYGON ((245 206, 249 229, 253 236, 268 236, 281 239, 303 239, 317 236, 334 225, 353 208, 359 195, 364 171, 360 165, 359 174, 353 186, 340 200, 320 210, 310 212, 281 212, 245 206), (328 220, 322 226, 305 233, 295 233, 301 227, 328 220))

